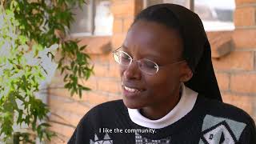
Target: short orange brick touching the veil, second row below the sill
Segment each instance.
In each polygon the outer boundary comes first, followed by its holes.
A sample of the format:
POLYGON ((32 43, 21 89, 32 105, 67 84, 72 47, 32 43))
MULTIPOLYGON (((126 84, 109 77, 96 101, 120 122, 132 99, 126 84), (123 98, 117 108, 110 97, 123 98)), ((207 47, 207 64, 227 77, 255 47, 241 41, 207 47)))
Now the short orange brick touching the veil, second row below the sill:
POLYGON ((230 74, 216 73, 216 78, 218 81, 218 86, 220 90, 229 90, 230 87, 230 74))

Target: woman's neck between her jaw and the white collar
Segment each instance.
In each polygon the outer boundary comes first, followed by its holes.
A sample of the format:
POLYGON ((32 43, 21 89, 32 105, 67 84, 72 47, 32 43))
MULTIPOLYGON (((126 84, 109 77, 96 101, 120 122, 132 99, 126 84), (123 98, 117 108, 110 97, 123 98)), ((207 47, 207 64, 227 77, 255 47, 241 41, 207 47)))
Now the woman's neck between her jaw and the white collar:
POLYGON ((143 107, 140 110, 140 113, 151 120, 157 120, 162 117, 164 117, 166 114, 170 112, 170 110, 173 110, 174 107, 178 104, 180 98, 181 98, 181 86, 178 90, 175 90, 175 94, 173 97, 170 97, 170 100, 166 100, 166 104, 161 106, 150 106, 150 107, 143 107))

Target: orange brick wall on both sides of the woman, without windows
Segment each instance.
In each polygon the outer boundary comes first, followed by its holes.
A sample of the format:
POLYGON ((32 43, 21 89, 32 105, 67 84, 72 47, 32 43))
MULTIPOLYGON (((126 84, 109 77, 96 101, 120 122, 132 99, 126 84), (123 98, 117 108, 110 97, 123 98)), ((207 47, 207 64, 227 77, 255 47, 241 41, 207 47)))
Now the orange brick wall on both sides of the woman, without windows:
MULTIPOLYGON (((212 60, 224 102, 241 107, 256 119, 256 0, 237 0, 236 4, 236 29, 208 33, 212 60)), ((111 10, 114 14, 111 37, 82 38, 82 44, 88 45, 86 53, 94 64, 94 75, 87 82, 80 82, 92 90, 84 93, 82 99, 78 95, 70 98, 67 90, 58 88, 63 86, 59 74, 51 82, 50 87, 55 88, 49 89, 50 123, 51 130, 58 134, 52 143, 66 143, 80 118, 93 106, 121 98, 118 65, 110 52, 121 46, 134 15, 142 10, 142 1, 112 0, 111 10)))

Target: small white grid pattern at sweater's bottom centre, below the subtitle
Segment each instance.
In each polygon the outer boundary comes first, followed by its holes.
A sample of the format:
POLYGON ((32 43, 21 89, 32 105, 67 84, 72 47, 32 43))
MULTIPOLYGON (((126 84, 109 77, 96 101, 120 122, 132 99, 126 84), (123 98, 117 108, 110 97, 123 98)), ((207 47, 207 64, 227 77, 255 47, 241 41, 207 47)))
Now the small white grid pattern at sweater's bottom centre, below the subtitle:
POLYGON ((135 133, 135 144, 169 144, 170 138, 162 139, 148 139, 142 137, 142 135, 135 133))

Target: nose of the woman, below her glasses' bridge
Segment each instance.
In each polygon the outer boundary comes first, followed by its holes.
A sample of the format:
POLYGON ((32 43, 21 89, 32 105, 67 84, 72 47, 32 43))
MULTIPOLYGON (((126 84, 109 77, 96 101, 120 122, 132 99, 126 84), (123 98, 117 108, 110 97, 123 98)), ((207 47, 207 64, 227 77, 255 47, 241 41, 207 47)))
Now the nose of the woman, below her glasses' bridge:
POLYGON ((129 79, 140 79, 142 78, 142 72, 138 68, 138 62, 131 62, 129 66, 126 66, 126 69, 123 72, 123 76, 129 79))

